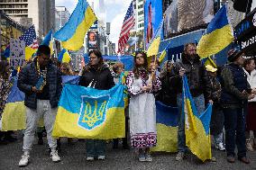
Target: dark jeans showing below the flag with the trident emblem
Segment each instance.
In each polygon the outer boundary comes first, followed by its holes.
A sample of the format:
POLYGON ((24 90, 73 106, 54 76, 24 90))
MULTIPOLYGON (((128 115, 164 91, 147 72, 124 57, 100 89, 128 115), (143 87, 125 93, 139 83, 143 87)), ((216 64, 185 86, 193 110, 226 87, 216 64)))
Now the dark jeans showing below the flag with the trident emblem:
POLYGON ((105 156, 105 140, 87 139, 87 157, 105 156))

